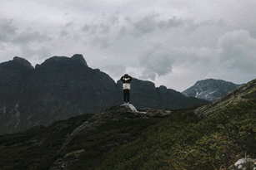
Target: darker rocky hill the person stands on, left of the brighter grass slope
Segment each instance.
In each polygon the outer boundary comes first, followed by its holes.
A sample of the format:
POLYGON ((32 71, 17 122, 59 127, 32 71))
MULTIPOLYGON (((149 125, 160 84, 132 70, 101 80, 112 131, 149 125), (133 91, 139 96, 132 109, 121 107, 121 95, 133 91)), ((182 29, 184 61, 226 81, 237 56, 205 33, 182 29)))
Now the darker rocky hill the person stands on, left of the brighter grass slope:
POLYGON ((83 161, 84 153, 88 168, 95 167, 102 161, 99 156, 134 140, 167 114, 171 112, 148 109, 146 113, 132 105, 113 106, 98 114, 58 121, 47 128, 38 126, 18 134, 0 135, 0 168, 72 168, 74 163, 83 161), (156 118, 150 119, 153 116, 156 118))

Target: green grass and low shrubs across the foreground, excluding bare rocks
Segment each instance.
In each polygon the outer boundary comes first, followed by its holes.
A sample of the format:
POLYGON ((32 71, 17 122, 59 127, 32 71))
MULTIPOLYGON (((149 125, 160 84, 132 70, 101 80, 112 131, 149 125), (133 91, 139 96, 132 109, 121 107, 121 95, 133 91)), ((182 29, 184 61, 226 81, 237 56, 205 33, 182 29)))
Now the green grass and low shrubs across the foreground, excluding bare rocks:
POLYGON ((72 153, 81 155, 71 170, 228 169, 245 153, 256 156, 256 100, 229 105, 201 122, 193 109, 182 109, 166 117, 103 124, 59 152, 76 121, 58 133, 52 126, 0 136, 0 169, 48 169, 72 153))

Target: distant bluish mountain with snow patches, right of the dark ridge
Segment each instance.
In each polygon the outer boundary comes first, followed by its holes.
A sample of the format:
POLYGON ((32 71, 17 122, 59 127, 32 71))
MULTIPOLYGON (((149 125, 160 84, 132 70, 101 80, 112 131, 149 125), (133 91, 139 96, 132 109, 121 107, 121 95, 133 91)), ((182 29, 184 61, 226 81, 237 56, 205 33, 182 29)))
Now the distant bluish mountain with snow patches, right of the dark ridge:
POLYGON ((198 99, 213 101, 239 86, 241 85, 236 85, 225 80, 199 80, 195 85, 184 90, 182 94, 187 97, 196 97, 198 99))

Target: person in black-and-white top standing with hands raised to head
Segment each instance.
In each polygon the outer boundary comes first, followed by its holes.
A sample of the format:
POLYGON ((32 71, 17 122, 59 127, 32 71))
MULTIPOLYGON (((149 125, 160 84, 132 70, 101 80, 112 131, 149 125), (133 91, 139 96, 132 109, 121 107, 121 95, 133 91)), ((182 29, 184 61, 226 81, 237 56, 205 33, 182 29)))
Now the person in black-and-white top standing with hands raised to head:
POLYGON ((133 80, 133 78, 128 75, 125 74, 121 77, 120 79, 123 82, 123 100, 124 100, 124 104, 129 104, 129 100, 130 100, 130 90, 131 90, 131 81, 133 80))

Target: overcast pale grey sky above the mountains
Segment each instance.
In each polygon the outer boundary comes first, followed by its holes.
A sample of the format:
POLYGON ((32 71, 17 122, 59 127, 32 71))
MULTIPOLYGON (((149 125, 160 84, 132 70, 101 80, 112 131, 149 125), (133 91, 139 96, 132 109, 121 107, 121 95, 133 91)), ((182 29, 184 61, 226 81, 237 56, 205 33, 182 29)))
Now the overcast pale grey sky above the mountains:
POLYGON ((255 0, 0 0, 0 62, 33 66, 82 54, 118 80, 128 73, 183 91, 197 80, 256 78, 255 0))

